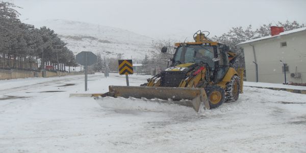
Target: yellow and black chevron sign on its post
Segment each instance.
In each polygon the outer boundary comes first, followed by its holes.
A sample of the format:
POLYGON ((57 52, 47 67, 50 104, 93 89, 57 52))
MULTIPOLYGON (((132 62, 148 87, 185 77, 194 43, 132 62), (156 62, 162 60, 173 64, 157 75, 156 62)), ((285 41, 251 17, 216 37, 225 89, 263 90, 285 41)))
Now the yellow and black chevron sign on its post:
POLYGON ((129 74, 133 74, 133 61, 132 60, 118 60, 119 74, 125 74, 126 86, 130 86, 129 74))

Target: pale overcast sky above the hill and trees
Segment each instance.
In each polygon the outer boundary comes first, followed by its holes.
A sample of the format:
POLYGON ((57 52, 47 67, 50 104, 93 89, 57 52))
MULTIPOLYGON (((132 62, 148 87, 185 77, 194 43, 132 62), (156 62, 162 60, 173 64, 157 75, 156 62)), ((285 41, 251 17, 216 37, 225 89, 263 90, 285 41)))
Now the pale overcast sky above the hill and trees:
MULTIPOLYGON (((1 0, 0 0, 1 1, 1 0)), ((231 27, 277 21, 306 23, 305 0, 10 0, 31 23, 67 19, 108 25, 153 38, 192 37, 197 30, 220 35, 231 27)), ((177 38, 181 39, 181 38, 177 38)))

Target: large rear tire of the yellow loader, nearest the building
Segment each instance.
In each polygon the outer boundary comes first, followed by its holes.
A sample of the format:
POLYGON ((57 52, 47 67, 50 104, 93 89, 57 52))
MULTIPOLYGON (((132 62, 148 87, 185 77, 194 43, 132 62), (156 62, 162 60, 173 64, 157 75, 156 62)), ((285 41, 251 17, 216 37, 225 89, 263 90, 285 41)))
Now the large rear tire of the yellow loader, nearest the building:
POLYGON ((240 93, 240 79, 234 75, 230 82, 226 83, 225 101, 234 102, 238 99, 240 93))

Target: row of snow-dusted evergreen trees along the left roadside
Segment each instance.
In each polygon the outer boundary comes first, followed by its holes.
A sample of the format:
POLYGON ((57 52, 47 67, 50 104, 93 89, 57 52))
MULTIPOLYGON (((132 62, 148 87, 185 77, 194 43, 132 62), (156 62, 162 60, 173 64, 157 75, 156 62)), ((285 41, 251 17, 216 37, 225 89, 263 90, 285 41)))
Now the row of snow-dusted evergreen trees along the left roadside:
POLYGON ((49 28, 37 29, 22 23, 12 3, 0 2, 0 65, 9 68, 35 69, 41 59, 40 69, 54 65, 57 70, 77 66, 73 52, 49 28))

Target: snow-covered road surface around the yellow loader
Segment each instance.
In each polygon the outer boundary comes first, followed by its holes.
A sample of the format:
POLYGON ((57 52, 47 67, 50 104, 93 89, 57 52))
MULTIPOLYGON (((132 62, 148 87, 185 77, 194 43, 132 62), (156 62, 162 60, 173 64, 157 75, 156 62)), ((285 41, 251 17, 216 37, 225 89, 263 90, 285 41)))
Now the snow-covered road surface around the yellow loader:
MULTIPOLYGON (((88 75, 90 93, 125 77, 88 75)), ((131 75, 138 86, 149 76, 131 75)), ((235 103, 192 108, 70 97, 84 76, 0 81, 0 152, 306 152, 306 95, 245 87, 235 103), (104 107, 100 107, 98 103, 104 107)))

